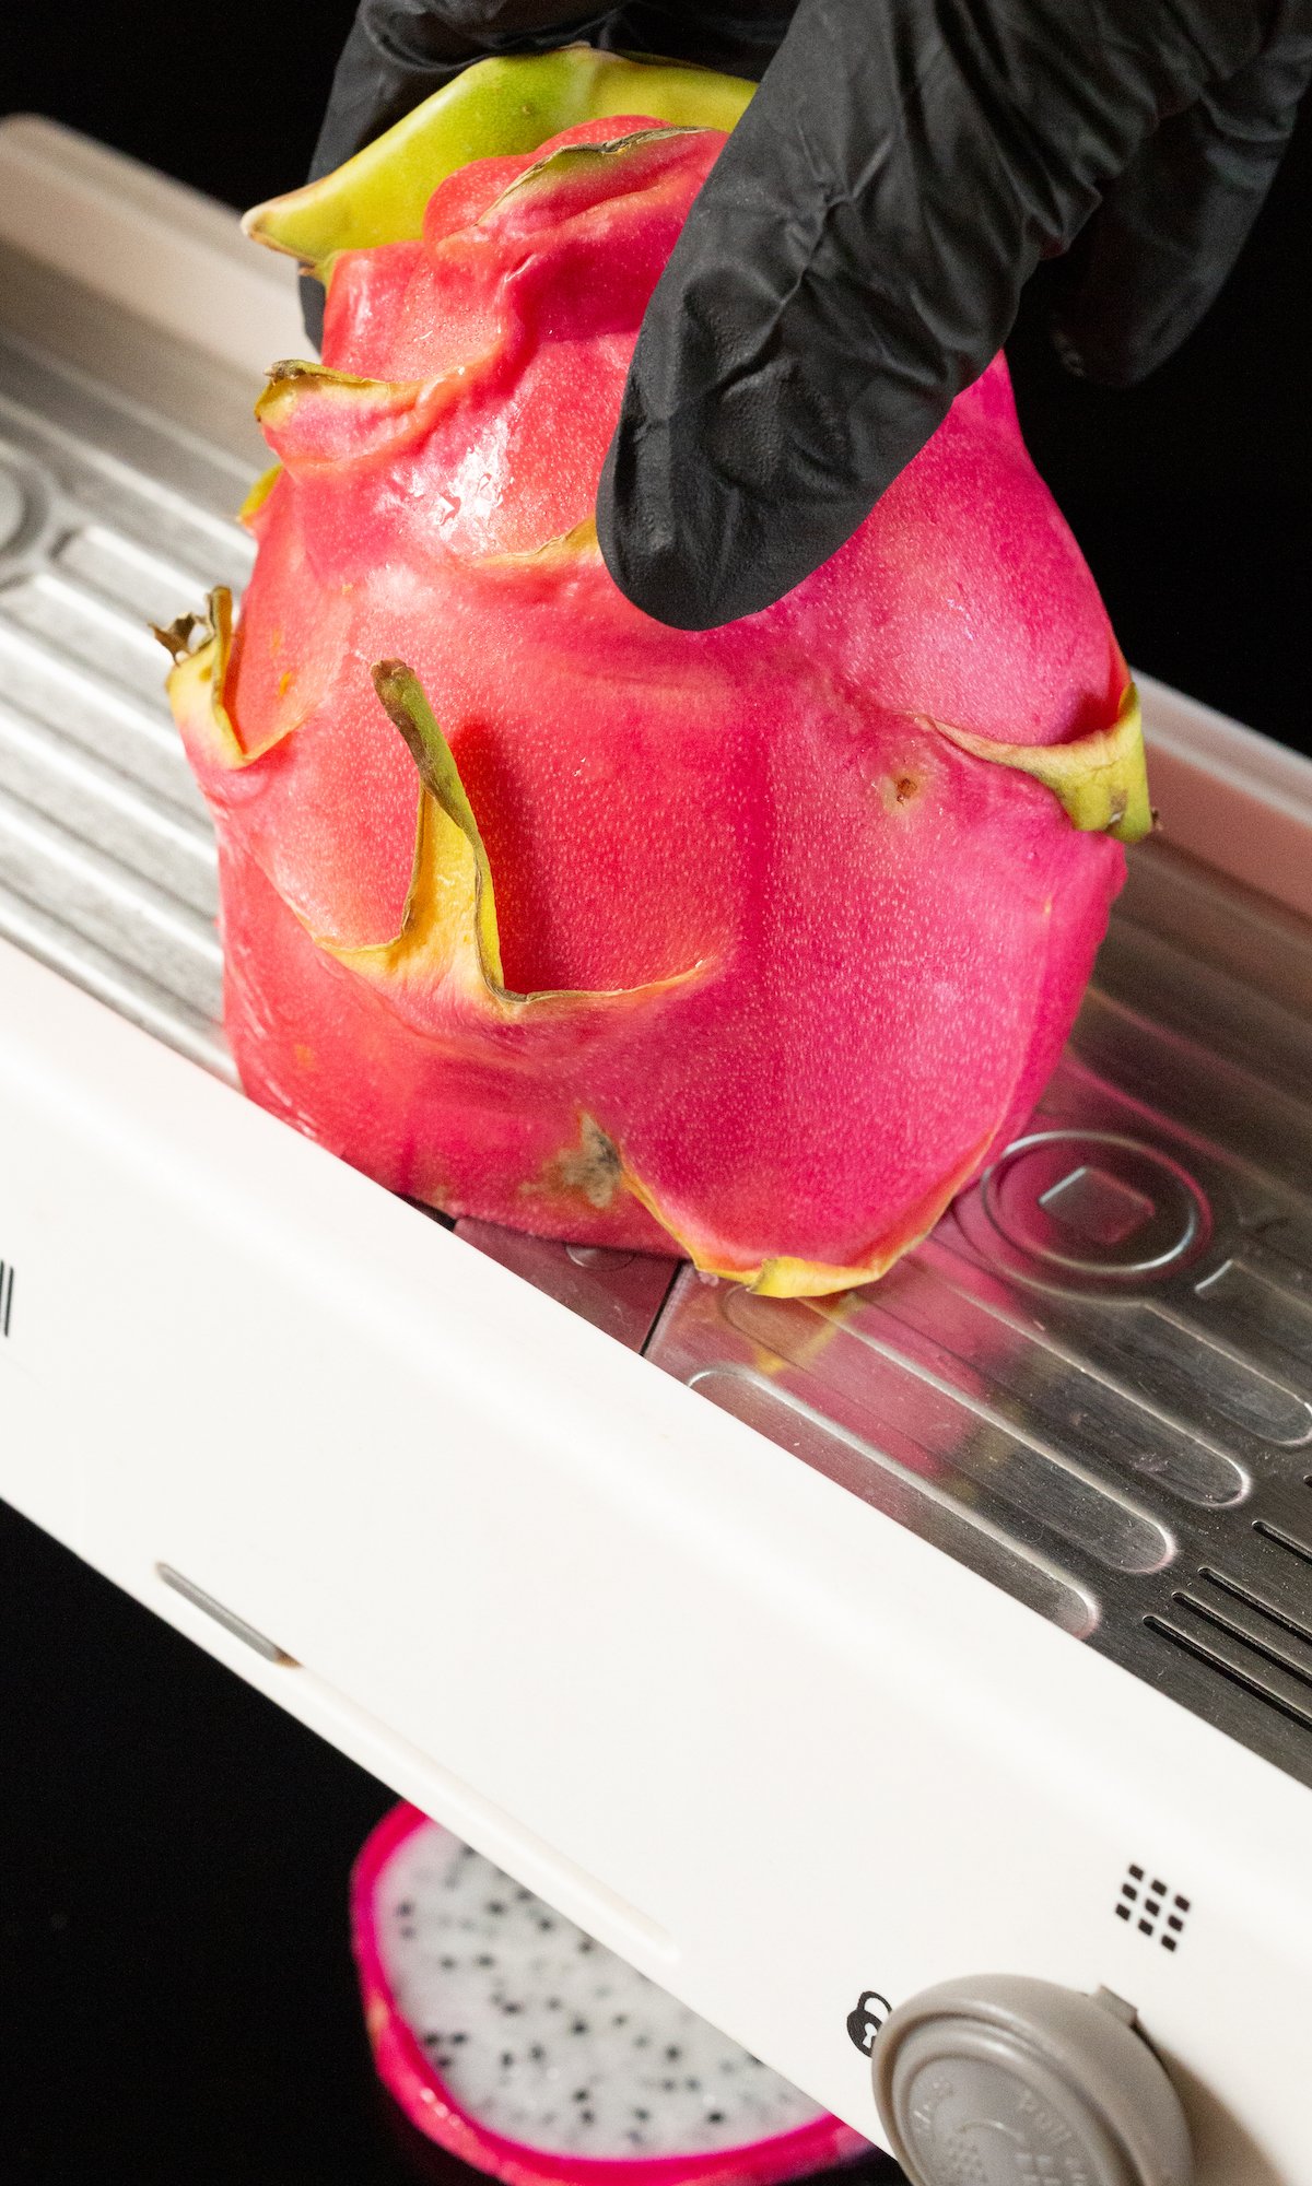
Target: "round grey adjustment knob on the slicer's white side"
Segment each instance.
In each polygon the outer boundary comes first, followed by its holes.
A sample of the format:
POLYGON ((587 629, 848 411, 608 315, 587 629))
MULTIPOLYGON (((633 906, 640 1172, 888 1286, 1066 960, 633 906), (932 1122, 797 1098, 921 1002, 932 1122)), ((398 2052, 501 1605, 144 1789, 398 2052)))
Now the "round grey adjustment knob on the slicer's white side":
POLYGON ((1190 2186, 1190 2129, 1135 2011, 980 1974, 899 2005, 875 2101, 912 2186, 1190 2186))

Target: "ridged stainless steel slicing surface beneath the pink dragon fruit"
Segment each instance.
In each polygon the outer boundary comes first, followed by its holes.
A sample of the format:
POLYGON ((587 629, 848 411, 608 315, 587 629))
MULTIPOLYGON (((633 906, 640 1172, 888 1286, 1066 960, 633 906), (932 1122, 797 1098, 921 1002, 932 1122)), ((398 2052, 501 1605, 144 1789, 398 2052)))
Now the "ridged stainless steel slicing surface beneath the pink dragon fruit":
MULTIPOLYGON (((9 254, 0 297, 0 933, 232 1078, 144 625, 249 571, 249 391, 9 254)), ((1312 929, 1131 863, 1028 1137, 872 1290, 461 1229, 1312 1782, 1312 929)))

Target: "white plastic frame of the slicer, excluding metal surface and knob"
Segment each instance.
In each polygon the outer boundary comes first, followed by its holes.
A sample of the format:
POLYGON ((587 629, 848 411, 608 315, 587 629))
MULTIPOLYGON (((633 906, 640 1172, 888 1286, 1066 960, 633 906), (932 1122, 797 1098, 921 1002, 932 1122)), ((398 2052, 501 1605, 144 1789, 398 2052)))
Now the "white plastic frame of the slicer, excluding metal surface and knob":
MULTIPOLYGON (((0 238, 302 345, 230 214, 50 125, 0 238)), ((1170 835, 1312 912, 1312 767, 1148 697, 1170 835)), ((862 2131, 862 1991, 1023 1972, 1137 2005, 1200 2186, 1312 2186, 1303 1784, 11 947, 0 1257, 0 1491, 862 2131)))

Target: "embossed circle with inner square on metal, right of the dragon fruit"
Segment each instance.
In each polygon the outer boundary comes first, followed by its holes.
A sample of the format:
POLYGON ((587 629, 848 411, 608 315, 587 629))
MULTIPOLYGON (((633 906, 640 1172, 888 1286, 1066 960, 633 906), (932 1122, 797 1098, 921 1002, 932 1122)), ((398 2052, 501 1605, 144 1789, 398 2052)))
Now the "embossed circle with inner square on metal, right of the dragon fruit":
POLYGON ((1214 1233, 1198 1180, 1120 1132, 1017 1139, 971 1202, 962 1229, 977 1250, 1061 1290, 1157 1288, 1192 1266, 1214 1233))

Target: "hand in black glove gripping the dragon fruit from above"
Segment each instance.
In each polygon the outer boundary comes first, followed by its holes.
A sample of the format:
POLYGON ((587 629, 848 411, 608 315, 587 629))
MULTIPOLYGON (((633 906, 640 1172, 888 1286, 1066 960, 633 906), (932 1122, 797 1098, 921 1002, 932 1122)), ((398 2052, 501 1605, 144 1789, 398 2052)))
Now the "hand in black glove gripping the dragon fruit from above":
POLYGON ((652 297, 597 498, 639 608, 824 562, 1067 251, 1065 363, 1150 372, 1225 282, 1312 74, 1312 0, 361 0, 328 173, 461 66, 588 39, 763 74, 652 297), (768 66, 765 66, 768 63, 768 66))

